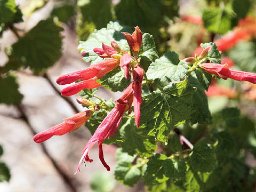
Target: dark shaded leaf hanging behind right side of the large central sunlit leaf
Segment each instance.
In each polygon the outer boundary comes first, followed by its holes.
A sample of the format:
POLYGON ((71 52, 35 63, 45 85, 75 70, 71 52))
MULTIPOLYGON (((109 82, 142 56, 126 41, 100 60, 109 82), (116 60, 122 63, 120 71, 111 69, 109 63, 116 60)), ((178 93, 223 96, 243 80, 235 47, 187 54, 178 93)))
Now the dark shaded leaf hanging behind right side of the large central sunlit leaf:
POLYGON ((191 75, 189 76, 189 82, 191 86, 197 88, 195 93, 193 94, 194 109, 196 109, 196 111, 193 115, 191 115, 191 123, 209 123, 212 117, 209 111, 208 100, 205 94, 205 90, 195 78, 195 73, 191 73, 191 75))

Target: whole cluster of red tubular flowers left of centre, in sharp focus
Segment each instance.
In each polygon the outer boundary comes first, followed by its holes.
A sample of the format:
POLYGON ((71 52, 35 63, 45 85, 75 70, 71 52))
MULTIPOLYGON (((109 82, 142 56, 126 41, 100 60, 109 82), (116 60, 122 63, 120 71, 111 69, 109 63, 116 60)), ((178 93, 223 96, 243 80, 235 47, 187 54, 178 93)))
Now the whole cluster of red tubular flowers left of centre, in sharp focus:
MULTIPOLYGON (((93 51, 99 55, 99 57, 105 59, 97 64, 92 65, 89 68, 75 71, 66 75, 62 75, 57 79, 57 83, 60 85, 77 83, 66 87, 61 90, 61 94, 65 97, 74 95, 83 89, 93 89, 101 86, 97 79, 102 78, 103 75, 109 73, 111 70, 120 66, 124 71, 126 79, 130 78, 130 72, 132 72, 133 82, 126 87, 123 95, 116 101, 116 106, 108 113, 103 119, 97 130, 92 135, 91 139, 87 142, 84 151, 82 153, 81 160, 79 161, 77 171, 83 161, 92 162, 88 153, 91 147, 98 142, 99 145, 99 158, 103 166, 109 171, 110 167, 104 160, 102 142, 107 138, 113 136, 118 129, 120 122, 122 121, 123 114, 128 111, 131 113, 131 106, 134 106, 135 124, 140 126, 140 106, 142 103, 141 97, 141 84, 144 76, 144 71, 139 64, 137 55, 140 51, 142 43, 142 33, 139 27, 135 27, 134 33, 122 33, 127 43, 130 46, 130 52, 121 50, 118 44, 114 41, 111 42, 111 46, 102 43, 101 48, 94 48, 93 51)), ((82 53, 84 55, 87 52, 82 53)), ((38 133, 34 137, 35 142, 43 142, 50 139, 53 135, 62 135, 68 132, 77 130, 93 115, 94 111, 100 109, 101 106, 95 105, 93 101, 89 101, 82 97, 77 98, 77 102, 88 107, 89 109, 78 113, 68 119, 64 119, 64 122, 53 126, 52 128, 38 133)), ((77 173, 76 171, 76 173, 77 173)))

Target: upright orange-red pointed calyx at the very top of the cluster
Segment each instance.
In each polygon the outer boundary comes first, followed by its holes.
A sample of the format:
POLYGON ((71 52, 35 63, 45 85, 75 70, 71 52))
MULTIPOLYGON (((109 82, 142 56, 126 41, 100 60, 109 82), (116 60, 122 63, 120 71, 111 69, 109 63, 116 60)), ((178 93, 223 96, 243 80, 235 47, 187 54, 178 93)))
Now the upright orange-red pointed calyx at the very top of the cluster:
POLYGON ((127 32, 123 32, 122 34, 125 36, 133 55, 137 56, 142 42, 142 33, 140 28, 138 26, 135 27, 135 31, 132 33, 132 35, 127 32))

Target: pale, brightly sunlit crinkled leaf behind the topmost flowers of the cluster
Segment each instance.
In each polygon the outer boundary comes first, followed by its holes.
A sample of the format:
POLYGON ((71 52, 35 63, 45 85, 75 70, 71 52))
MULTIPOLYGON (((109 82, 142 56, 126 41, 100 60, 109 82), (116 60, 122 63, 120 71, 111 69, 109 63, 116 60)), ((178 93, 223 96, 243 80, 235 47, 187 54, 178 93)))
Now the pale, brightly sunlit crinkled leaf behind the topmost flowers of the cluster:
MULTIPOLYGON (((121 26, 117 21, 110 21, 107 28, 100 30, 94 30, 86 41, 80 41, 78 50, 82 53, 84 51, 93 50, 95 47, 102 47, 102 43, 109 45, 111 41, 115 41, 119 44, 121 49, 129 51, 129 45, 122 32, 132 33, 131 28, 127 26, 121 26)), ((103 59, 98 54, 90 51, 83 57, 85 62, 91 62, 92 64, 98 63, 103 59)))

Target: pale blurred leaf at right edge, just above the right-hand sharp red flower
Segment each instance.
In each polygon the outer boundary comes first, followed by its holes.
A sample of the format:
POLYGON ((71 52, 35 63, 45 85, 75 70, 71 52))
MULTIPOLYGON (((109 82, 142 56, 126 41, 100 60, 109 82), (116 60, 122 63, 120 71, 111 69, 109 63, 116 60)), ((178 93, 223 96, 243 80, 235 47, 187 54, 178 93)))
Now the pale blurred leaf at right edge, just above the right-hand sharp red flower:
POLYGON ((228 52, 236 65, 242 70, 255 72, 256 70, 256 44, 254 42, 238 43, 228 52))

